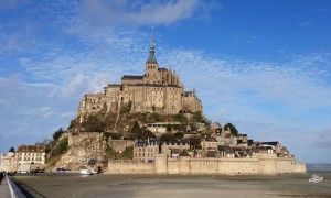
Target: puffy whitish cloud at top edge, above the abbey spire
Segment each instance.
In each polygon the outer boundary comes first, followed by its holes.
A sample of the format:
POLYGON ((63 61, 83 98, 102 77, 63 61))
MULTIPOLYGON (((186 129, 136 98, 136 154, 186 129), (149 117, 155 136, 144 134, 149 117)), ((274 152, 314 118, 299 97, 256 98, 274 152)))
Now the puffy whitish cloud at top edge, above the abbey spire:
POLYGON ((222 9, 216 1, 153 0, 147 2, 127 0, 84 0, 79 6, 83 19, 94 28, 105 25, 169 25, 197 16, 211 19, 210 10, 222 9))

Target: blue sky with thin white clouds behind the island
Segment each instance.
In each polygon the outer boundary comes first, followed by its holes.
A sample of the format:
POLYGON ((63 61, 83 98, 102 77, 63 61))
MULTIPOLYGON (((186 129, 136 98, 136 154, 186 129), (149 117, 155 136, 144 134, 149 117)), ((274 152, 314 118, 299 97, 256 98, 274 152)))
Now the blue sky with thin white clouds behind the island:
POLYGON ((331 163, 329 0, 2 0, 0 153, 76 117, 85 94, 160 67, 204 116, 297 161, 331 163))

